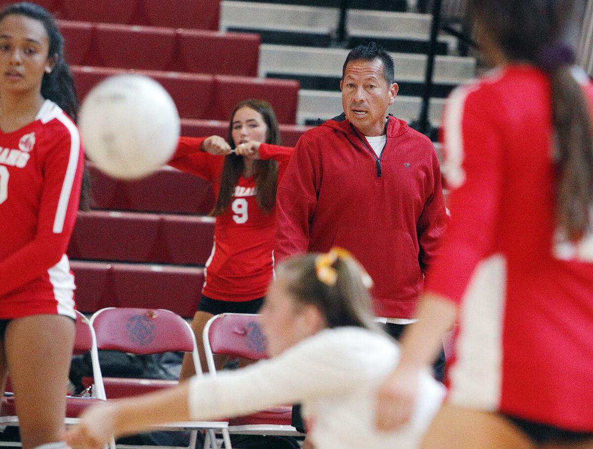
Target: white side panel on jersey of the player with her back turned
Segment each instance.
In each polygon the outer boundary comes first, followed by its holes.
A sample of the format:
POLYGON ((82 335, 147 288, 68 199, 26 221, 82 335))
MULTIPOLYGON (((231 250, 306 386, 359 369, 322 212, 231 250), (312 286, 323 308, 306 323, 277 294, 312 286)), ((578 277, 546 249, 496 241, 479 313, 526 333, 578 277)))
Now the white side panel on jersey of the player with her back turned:
POLYGON ((506 304, 506 260, 502 255, 480 262, 461 304, 449 400, 459 406, 497 410, 506 304))

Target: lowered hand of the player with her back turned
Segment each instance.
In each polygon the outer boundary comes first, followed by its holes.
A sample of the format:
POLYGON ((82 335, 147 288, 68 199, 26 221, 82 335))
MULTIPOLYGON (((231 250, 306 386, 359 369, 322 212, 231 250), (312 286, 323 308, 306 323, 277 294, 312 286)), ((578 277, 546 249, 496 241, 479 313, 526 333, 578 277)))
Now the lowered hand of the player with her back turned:
POLYGON ((393 432, 412 418, 420 369, 398 365, 377 392, 377 429, 393 432))

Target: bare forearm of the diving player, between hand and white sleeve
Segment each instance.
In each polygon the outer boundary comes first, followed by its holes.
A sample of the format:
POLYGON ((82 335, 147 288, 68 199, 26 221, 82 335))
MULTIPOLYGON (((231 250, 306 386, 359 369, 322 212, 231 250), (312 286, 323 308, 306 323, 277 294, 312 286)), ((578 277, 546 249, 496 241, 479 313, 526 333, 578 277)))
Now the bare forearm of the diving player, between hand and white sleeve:
POLYGON ((187 383, 135 399, 115 402, 116 437, 132 435, 159 424, 189 421, 187 383))

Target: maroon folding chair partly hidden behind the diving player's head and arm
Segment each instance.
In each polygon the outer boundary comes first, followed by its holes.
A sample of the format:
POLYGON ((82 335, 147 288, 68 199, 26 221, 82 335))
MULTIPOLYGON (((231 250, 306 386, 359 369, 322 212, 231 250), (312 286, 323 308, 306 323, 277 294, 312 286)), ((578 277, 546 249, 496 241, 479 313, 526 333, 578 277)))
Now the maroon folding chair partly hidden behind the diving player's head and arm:
MULTIPOLYGON (((216 376, 214 354, 248 360, 264 360, 267 341, 262 333, 257 315, 247 313, 222 313, 213 316, 204 328, 204 351, 208 371, 216 376)), ((229 420, 228 431, 251 435, 304 435, 291 425, 292 406, 276 406, 260 412, 229 420)))

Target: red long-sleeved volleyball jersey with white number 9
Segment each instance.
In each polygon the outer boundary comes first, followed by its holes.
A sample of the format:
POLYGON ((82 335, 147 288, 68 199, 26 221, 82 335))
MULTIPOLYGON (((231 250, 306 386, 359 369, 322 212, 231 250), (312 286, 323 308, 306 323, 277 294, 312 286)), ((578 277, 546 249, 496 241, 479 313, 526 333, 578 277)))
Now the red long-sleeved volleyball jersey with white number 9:
MULTIPOLYGON (((202 152, 203 140, 181 137, 169 165, 211 181, 218 197, 225 158, 202 152)), ((262 143, 259 153, 262 159, 279 162, 280 178, 292 148, 262 143)), ((276 208, 264 214, 256 201, 256 180, 240 177, 227 210, 216 217, 203 294, 232 302, 265 296, 273 278, 275 232, 276 208)))

